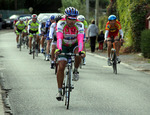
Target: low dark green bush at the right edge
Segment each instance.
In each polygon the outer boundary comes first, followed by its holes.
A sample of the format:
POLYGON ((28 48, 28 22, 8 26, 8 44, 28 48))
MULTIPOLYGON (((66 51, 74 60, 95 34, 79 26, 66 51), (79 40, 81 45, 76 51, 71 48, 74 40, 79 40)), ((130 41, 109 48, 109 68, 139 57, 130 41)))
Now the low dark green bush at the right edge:
POLYGON ((141 51, 145 58, 150 58, 150 30, 141 32, 141 51))

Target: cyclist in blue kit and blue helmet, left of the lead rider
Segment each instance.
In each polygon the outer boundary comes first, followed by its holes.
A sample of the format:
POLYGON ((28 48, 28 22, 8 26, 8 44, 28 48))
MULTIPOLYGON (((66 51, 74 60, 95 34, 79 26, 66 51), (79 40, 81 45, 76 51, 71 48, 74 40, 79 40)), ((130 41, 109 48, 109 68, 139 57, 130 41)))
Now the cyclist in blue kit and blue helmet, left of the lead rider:
POLYGON ((52 39, 49 38, 49 30, 50 30, 50 26, 53 22, 55 22, 55 16, 51 15, 50 19, 47 20, 47 22, 46 22, 46 33, 47 33, 46 61, 49 61, 49 58, 50 58, 49 52, 50 52, 50 44, 52 42, 52 39))

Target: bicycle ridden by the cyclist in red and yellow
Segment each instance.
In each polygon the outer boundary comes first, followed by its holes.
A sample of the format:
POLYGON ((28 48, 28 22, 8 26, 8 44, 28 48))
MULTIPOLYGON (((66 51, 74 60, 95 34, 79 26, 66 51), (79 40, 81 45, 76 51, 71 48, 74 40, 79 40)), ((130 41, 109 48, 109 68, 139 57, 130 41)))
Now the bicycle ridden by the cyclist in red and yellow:
POLYGON ((112 48, 111 48, 111 53, 110 53, 110 59, 111 59, 111 65, 113 68, 113 73, 117 74, 117 55, 116 55, 116 49, 114 46, 114 41, 120 41, 120 39, 114 40, 114 36, 111 36, 111 40, 107 40, 107 41, 111 41, 112 43, 112 48))

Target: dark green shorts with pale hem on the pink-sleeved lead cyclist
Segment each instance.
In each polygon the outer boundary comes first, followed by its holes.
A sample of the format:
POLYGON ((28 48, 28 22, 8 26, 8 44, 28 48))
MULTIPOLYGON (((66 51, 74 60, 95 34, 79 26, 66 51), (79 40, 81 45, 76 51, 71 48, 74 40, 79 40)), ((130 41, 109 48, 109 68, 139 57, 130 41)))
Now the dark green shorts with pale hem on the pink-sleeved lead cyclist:
MULTIPOLYGON (((62 53, 69 53, 69 52, 74 53, 74 50, 76 48, 78 48, 78 43, 75 43, 74 45, 72 45, 70 47, 62 45, 62 53)), ((68 56, 60 55, 60 56, 58 56, 58 61, 61 61, 61 60, 67 61, 67 58, 68 58, 68 56)))

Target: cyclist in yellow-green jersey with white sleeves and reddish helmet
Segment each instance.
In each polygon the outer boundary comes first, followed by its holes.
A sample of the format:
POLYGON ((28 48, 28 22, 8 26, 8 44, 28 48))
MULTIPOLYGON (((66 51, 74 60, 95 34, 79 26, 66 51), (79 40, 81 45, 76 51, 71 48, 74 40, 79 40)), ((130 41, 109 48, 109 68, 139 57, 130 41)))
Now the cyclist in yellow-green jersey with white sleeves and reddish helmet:
POLYGON ((33 38, 33 33, 36 33, 36 39, 37 39, 37 43, 39 45, 39 49, 40 49, 40 40, 39 40, 39 32, 38 32, 38 28, 39 28, 39 22, 37 21, 37 15, 33 14, 32 15, 32 19, 29 20, 28 22, 28 33, 29 33, 29 54, 32 54, 31 51, 31 46, 32 46, 32 38, 33 38))

